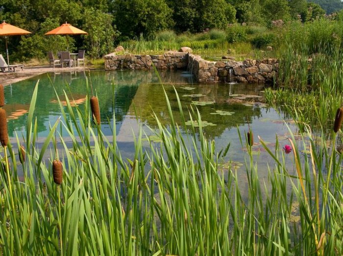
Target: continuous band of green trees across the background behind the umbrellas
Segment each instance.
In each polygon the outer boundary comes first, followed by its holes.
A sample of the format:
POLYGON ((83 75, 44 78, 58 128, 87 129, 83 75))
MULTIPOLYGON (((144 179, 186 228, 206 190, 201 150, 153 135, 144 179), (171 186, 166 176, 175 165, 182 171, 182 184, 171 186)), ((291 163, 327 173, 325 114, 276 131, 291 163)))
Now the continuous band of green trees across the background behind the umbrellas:
MULTIPOLYGON (((12 59, 44 58, 47 51, 86 49, 98 58, 116 42, 143 35, 226 29, 229 24, 269 25, 301 15, 303 22, 343 9, 341 0, 2 0, 0 20, 32 34, 7 38, 12 59), (46 36, 68 22, 88 35, 46 36), (116 41, 117 40, 117 41, 116 41)), ((342 15, 341 15, 342 16, 342 15)), ((4 40, 0 37, 0 52, 4 40)))

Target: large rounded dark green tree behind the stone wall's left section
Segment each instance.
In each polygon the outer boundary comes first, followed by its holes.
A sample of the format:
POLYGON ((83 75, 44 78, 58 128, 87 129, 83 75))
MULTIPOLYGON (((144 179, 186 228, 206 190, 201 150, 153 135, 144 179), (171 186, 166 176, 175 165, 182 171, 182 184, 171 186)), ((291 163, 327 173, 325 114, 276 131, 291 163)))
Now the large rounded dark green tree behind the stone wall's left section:
POLYGON ((114 11, 124 38, 149 37, 173 26, 172 9, 165 0, 117 0, 114 11))

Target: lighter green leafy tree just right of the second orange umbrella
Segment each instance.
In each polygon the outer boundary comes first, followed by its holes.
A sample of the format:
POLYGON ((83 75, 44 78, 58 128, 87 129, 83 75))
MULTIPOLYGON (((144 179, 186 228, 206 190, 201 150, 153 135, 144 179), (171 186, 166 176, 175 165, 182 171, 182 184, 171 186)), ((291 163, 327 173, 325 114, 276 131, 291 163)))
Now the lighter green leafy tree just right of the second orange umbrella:
POLYGON ((88 32, 85 35, 85 46, 90 56, 98 58, 111 52, 114 40, 119 35, 116 26, 112 25, 114 17, 93 7, 85 9, 84 17, 83 28, 88 32))

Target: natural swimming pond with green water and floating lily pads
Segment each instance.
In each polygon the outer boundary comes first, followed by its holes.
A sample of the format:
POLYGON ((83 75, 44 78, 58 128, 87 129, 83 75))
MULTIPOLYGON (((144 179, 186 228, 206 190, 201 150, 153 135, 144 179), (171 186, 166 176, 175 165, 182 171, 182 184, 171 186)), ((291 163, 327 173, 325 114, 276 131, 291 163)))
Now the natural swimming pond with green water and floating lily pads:
MULTIPOLYGON (((243 166, 246 157, 245 133, 248 131, 249 122, 255 142, 252 151, 258 158, 258 165, 262 167, 259 170, 265 170, 265 175, 263 172, 260 174, 261 178, 268 176, 267 164, 271 157, 259 143, 258 136, 273 151, 276 136, 279 139, 279 147, 282 148, 288 143, 287 138, 290 137, 290 133, 283 121, 284 113, 279 113, 261 102, 264 85, 197 84, 191 74, 182 71, 160 72, 159 75, 174 111, 174 121, 178 125, 181 124, 178 103, 174 93, 175 88, 186 120, 190 120, 188 113, 191 108, 197 108, 201 114, 203 131, 209 138, 215 140, 216 149, 219 151, 231 143, 226 160, 231 160, 236 169, 243 166)), ((49 133, 49 126, 52 126, 61 117, 61 110, 54 89, 63 105, 67 104, 64 96, 65 91, 71 104, 77 104, 82 108, 87 94, 86 77, 88 77, 88 73, 83 72, 51 73, 5 86, 4 108, 7 112, 10 138, 15 138, 15 132, 20 138, 23 137, 22 132, 25 134, 29 104, 38 80, 35 117, 38 124, 38 136, 45 138, 49 133)), ((157 129, 153 113, 164 125, 170 124, 163 87, 154 72, 95 71, 91 72, 90 77, 94 93, 96 92, 98 95, 101 130, 106 136, 112 135, 111 125, 115 114, 117 143, 124 157, 130 157, 134 154, 133 136, 138 135, 135 109, 139 121, 144 124, 145 131, 147 135, 151 135, 152 140, 154 140, 153 132, 147 127, 152 130, 157 129), (112 95, 113 83, 114 97, 112 95)), ((194 116, 192 118, 195 119, 194 116)), ((293 121, 287 122, 290 128, 294 130, 293 121)), ((185 132, 182 126, 180 129, 185 132)), ((63 136, 68 136, 63 128, 59 131, 62 132, 63 136)))

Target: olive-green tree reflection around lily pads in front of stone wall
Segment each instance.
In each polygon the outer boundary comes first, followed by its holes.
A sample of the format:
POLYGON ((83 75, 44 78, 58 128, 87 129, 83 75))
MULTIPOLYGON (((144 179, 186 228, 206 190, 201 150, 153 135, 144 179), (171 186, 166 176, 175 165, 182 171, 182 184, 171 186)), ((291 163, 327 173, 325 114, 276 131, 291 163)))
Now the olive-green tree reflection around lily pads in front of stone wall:
MULTIPOLYGON (((168 107, 165 100, 163 88, 160 84, 145 84, 144 90, 140 88, 134 98, 136 108, 141 113, 141 121, 145 122, 150 128, 158 128, 153 112, 163 125, 170 124, 171 120, 168 113, 168 107)), ((173 111, 173 118, 177 124, 181 124, 181 115, 179 113, 179 107, 176 94, 172 85, 164 86, 171 108, 173 111)), ((245 125, 247 118, 251 122, 254 117, 261 117, 261 109, 258 106, 244 105, 241 103, 228 102, 229 88, 219 85, 196 85, 196 90, 190 92, 183 89, 182 86, 176 86, 179 98, 181 100, 182 110, 185 115, 185 119, 190 120, 191 106, 193 109, 199 110, 201 119, 203 121, 215 124, 215 126, 206 126, 203 130, 207 134, 211 134, 212 137, 220 136, 225 129, 230 129, 236 126, 245 125), (184 95, 194 95, 197 97, 184 97, 184 95), (199 96, 202 95, 202 96, 199 96), (192 101, 197 102, 209 102, 205 105, 194 105, 192 101), (213 103, 210 103, 213 102, 213 103), (225 112, 234 112, 232 115, 219 115, 214 114, 216 110, 225 112)), ((130 108, 129 111, 132 111, 130 108)), ((195 120, 195 116, 192 116, 195 120)), ((184 129, 181 127, 181 129, 184 129)))

